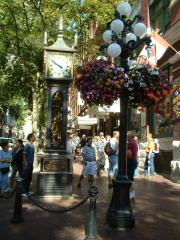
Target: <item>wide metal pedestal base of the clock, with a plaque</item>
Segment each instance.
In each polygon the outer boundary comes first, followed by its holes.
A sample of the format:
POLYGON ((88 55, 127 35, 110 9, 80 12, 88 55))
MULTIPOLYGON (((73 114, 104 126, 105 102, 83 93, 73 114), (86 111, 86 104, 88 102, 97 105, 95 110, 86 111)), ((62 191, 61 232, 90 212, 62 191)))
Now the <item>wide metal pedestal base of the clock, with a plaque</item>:
POLYGON ((38 196, 72 195, 72 159, 69 154, 49 151, 44 153, 38 174, 38 196))

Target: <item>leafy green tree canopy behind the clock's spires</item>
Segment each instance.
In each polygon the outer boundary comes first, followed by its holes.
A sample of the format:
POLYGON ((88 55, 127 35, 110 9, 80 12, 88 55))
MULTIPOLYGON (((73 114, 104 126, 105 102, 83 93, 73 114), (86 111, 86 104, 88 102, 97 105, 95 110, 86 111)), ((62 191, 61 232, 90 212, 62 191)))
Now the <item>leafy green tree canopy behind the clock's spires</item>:
MULTIPOLYGON (((45 94, 43 36, 47 31, 48 45, 54 43, 61 14, 64 16, 64 35, 67 42, 72 43, 75 32, 78 32, 77 56, 81 55, 83 49, 85 57, 90 55, 95 58, 106 23, 114 17, 114 8, 119 2, 119 0, 1 0, 0 107, 10 108, 16 119, 22 119, 23 111, 18 110, 21 109, 19 107, 16 109, 17 105, 12 102, 21 99, 25 103, 23 106, 32 109, 33 91, 38 92, 39 99, 45 94), (91 20, 98 24, 98 30, 92 39, 88 35, 91 20)), ((40 101, 40 104, 44 102, 40 101)), ((45 124, 43 110, 39 121, 40 125, 45 124)))

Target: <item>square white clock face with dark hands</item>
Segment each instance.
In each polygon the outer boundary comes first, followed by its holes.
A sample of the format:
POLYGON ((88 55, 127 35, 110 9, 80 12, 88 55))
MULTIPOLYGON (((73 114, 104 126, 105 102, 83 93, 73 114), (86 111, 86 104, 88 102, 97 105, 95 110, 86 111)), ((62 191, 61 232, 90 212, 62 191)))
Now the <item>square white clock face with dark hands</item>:
POLYGON ((48 53, 46 76, 71 78, 72 55, 68 53, 48 53))

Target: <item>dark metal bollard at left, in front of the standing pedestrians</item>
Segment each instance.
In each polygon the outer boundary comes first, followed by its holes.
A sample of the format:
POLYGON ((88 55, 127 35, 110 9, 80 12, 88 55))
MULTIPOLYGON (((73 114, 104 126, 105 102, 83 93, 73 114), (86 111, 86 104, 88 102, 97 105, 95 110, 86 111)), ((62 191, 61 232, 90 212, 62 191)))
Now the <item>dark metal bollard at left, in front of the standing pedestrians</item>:
POLYGON ((21 223, 24 222, 22 217, 22 178, 16 178, 16 195, 15 195, 15 205, 14 205, 14 215, 11 218, 11 223, 21 223))

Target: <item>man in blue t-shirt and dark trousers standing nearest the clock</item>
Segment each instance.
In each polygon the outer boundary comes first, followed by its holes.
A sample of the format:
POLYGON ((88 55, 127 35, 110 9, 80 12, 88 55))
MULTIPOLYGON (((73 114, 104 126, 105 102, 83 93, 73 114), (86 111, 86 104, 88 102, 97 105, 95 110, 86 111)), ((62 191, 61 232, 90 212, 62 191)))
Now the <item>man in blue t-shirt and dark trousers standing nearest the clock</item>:
POLYGON ((32 181, 33 163, 34 163, 34 145, 36 138, 33 133, 27 136, 28 143, 23 151, 23 197, 33 194, 30 192, 30 184, 32 181))

